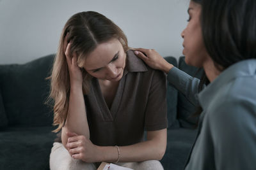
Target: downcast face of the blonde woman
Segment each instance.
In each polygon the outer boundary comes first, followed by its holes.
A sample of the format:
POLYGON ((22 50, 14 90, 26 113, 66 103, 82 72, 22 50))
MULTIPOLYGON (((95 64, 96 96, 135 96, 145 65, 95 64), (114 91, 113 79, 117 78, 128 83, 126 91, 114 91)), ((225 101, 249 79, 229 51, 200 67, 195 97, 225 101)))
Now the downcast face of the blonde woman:
POLYGON ((84 69, 100 80, 119 81, 124 74, 126 53, 118 39, 100 43, 86 56, 84 69))

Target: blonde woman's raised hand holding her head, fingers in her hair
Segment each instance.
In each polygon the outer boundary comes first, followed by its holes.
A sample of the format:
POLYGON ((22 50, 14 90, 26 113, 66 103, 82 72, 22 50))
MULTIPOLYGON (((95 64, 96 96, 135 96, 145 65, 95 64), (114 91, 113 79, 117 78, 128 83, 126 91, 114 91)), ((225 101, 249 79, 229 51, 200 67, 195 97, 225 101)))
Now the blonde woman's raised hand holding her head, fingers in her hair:
MULTIPOLYGON (((68 36, 68 34, 67 34, 68 36)), ((83 76, 81 68, 77 66, 77 53, 71 53, 71 42, 67 43, 67 36, 64 41, 64 52, 68 64, 68 71, 70 76, 70 85, 79 85, 81 86, 83 83, 83 76)))

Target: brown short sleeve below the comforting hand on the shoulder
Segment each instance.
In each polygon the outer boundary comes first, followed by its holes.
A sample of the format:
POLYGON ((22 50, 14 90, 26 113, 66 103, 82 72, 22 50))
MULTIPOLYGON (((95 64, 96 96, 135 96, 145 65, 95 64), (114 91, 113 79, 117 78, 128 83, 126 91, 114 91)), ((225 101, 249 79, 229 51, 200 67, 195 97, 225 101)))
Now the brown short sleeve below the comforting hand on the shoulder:
POLYGON ((166 76, 154 71, 145 110, 145 130, 157 131, 167 127, 166 76))

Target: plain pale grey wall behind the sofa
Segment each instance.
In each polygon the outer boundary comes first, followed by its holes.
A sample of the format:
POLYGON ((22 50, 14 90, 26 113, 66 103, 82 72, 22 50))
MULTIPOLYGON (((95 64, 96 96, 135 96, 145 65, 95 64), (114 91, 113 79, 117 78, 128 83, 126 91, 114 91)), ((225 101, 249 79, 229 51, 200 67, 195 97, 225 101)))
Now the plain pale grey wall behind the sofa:
POLYGON ((188 0, 0 0, 0 64, 56 53, 61 29, 74 13, 98 11, 125 32, 129 46, 182 55, 180 32, 188 0))

